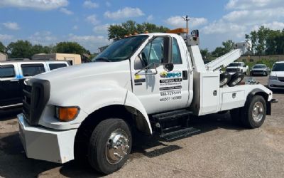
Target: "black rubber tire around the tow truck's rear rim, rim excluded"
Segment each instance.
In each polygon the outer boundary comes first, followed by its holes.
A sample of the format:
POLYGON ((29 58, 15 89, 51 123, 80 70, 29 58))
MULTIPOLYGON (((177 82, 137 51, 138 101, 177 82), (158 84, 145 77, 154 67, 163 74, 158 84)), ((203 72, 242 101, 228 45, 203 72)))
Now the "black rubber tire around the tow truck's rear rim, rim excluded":
POLYGON ((266 100, 264 100, 261 95, 254 95, 252 98, 248 98, 244 108, 241 108, 240 112, 241 122, 244 124, 244 126, 249 128, 261 127, 266 119, 266 100), (263 116, 261 117, 261 120, 258 120, 257 122, 256 120, 253 120, 253 106, 256 103, 262 103, 263 106, 263 116))

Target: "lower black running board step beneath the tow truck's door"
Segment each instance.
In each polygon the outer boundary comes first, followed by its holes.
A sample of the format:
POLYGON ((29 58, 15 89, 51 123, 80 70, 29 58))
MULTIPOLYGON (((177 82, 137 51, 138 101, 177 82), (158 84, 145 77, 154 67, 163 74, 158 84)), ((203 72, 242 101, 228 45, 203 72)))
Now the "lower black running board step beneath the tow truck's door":
POLYGON ((180 137, 187 137, 188 135, 192 135, 196 132, 200 132, 200 130, 194 127, 188 127, 182 130, 176 130, 173 132, 168 132, 163 135, 160 135, 160 138, 165 139, 166 141, 174 140, 180 137))

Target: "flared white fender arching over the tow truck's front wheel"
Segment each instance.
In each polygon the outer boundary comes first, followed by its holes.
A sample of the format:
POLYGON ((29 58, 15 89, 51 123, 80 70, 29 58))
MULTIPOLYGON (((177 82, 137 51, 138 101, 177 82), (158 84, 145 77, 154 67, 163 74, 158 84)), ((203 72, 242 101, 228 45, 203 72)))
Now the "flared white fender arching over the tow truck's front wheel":
MULTIPOLYGON (((84 86, 84 88, 86 88, 84 86)), ((78 90, 78 88, 76 88, 78 90)), ((141 114, 143 119, 148 124, 148 132, 152 134, 151 124, 147 115, 145 108, 143 107, 141 101, 134 95, 130 90, 122 88, 116 83, 100 83, 99 87, 92 88, 89 87, 82 91, 82 93, 72 94, 75 91, 65 90, 64 95, 68 97, 59 98, 55 97, 54 102, 50 102, 50 105, 77 105, 80 108, 80 112, 84 112, 84 115, 78 115, 77 118, 71 122, 61 122, 61 125, 65 124, 72 125, 72 128, 80 127, 80 124, 84 121, 87 115, 92 114, 92 112, 99 110, 100 108, 107 107, 109 105, 125 105, 131 108, 135 108, 141 114)), ((57 93, 58 95, 63 95, 63 93, 57 93)), ((52 95, 52 97, 55 95, 52 95)))

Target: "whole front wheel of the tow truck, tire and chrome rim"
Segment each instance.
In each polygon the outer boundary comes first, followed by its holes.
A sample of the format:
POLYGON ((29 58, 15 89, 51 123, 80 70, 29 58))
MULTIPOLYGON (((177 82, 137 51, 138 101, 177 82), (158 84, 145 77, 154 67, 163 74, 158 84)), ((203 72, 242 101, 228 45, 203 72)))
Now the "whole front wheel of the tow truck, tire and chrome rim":
POLYGON ((103 120, 94 128, 89 140, 89 164, 98 172, 111 174, 125 164, 131 145, 131 131, 124 120, 103 120))

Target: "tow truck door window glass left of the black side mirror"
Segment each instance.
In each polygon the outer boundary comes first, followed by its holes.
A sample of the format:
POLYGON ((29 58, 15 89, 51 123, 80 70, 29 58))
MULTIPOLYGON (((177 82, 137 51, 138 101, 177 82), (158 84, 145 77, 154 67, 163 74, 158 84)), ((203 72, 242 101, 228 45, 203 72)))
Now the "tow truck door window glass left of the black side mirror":
POLYGON ((164 38, 155 38, 151 43, 148 43, 141 53, 143 61, 150 63, 161 63, 164 51, 163 51, 164 38))

